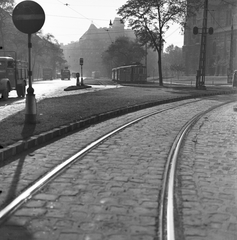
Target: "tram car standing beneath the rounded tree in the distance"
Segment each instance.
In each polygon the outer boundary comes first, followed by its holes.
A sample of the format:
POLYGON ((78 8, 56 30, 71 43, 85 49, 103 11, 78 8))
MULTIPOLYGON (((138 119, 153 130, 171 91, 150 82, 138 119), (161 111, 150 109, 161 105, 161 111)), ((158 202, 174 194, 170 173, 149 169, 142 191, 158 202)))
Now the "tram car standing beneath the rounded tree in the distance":
POLYGON ((112 80, 116 82, 146 82, 146 67, 128 65, 112 69, 112 80))

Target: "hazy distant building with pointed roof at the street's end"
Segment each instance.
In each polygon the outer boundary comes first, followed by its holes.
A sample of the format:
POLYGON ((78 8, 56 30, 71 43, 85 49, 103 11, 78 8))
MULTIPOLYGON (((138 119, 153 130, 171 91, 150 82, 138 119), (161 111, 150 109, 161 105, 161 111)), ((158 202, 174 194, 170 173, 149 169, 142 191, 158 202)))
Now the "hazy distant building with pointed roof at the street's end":
POLYGON ((100 72, 100 75, 105 76, 107 73, 102 64, 102 54, 116 38, 121 36, 135 39, 134 31, 125 29, 120 18, 115 18, 109 28, 97 28, 92 23, 79 42, 63 47, 71 71, 80 71, 79 58, 83 58, 84 76, 90 77, 92 72, 100 72))

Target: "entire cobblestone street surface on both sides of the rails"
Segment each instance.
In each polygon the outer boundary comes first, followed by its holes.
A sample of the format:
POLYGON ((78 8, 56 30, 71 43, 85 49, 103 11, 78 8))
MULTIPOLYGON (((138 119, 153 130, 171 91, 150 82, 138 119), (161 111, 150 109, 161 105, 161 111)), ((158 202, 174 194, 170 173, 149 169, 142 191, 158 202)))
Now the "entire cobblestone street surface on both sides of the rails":
MULTIPOLYGON (((16 211, 0 229, 1 240, 156 239, 170 146, 187 119, 225 98, 154 115, 109 138, 16 211)), ((102 133, 149 111, 111 119, 22 154, 1 168, 0 204, 102 133)), ((233 105, 225 106, 205 116, 188 135, 179 165, 185 240, 236 239, 235 122, 233 105)))

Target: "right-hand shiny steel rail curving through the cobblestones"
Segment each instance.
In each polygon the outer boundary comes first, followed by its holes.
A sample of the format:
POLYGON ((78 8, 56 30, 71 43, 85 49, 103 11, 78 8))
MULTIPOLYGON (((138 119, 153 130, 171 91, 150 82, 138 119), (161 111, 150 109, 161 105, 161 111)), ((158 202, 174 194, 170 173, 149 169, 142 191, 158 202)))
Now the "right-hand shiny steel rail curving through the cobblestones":
POLYGON ((217 106, 213 106, 201 113, 196 114, 191 118, 177 134, 166 163, 164 180, 162 185, 162 192, 160 197, 160 211, 159 211, 159 239, 160 240, 176 240, 175 237, 175 223, 174 223, 174 185, 175 185, 175 172, 178 154, 181 146, 184 142, 184 138, 191 128, 207 113, 215 110, 216 108, 227 105, 233 101, 222 103, 217 106), (167 199, 167 200, 166 200, 167 199), (167 236, 165 237, 165 232, 167 236))

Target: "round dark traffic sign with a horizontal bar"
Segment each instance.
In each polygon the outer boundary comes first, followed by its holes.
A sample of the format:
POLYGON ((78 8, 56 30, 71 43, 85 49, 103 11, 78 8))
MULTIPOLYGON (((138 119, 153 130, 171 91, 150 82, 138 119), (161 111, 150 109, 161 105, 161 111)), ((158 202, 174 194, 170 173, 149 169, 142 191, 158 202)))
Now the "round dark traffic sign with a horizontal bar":
POLYGON ((15 27, 23 33, 36 33, 44 25, 43 8, 34 1, 20 2, 13 10, 12 20, 15 27))

